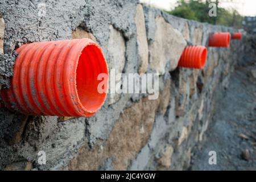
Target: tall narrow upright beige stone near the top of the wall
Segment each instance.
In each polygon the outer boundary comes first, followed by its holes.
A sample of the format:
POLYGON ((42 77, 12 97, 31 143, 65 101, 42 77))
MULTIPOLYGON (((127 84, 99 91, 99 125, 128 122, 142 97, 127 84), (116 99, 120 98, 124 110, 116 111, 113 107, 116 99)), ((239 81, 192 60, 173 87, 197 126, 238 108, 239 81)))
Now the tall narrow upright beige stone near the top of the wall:
POLYGON ((148 45, 146 35, 146 24, 144 19, 144 11, 141 4, 137 5, 137 13, 135 17, 137 26, 137 46, 139 53, 139 60, 141 65, 139 67, 139 74, 145 73, 148 66, 148 45))

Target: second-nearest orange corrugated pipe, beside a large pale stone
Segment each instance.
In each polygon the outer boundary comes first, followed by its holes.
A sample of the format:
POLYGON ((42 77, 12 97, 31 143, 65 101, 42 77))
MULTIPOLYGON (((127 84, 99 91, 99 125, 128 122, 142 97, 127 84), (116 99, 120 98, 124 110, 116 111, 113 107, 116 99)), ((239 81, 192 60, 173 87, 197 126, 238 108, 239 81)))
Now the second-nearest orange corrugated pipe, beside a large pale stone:
POLYGON ((203 69, 207 60, 207 48, 187 46, 180 57, 178 67, 203 69))

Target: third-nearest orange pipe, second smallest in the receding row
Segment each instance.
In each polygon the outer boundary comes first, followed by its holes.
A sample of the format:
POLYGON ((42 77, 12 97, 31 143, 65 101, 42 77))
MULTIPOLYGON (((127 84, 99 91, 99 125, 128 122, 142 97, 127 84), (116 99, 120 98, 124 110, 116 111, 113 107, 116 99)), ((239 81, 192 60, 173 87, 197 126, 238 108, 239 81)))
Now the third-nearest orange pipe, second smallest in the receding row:
POLYGON ((229 32, 216 32, 209 36, 209 47, 229 47, 229 45, 229 32))

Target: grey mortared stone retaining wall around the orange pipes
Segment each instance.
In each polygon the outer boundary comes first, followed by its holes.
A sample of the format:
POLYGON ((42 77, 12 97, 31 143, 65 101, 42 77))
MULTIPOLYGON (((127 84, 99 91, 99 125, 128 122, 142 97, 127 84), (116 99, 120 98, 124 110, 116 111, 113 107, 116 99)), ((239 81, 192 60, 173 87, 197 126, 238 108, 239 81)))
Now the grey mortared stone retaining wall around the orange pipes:
POLYGON ((187 169, 211 122, 214 97, 241 59, 242 42, 208 48, 203 70, 177 68, 177 62, 187 44, 207 46, 217 31, 237 30, 176 18, 137 1, 1 1, 2 87, 9 86, 13 51, 22 44, 90 38, 104 49, 109 69, 159 73, 160 93, 156 100, 109 94, 91 118, 1 108, 0 169, 187 169), (38 3, 46 5, 43 16, 38 3), (46 152, 45 165, 38 164, 39 151, 46 152))

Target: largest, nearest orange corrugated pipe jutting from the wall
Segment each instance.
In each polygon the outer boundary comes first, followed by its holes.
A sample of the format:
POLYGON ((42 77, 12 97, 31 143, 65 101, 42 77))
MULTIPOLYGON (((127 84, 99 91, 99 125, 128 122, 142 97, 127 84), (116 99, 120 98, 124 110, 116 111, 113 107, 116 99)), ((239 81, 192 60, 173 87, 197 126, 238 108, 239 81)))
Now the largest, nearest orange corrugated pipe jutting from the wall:
MULTIPOLYGON (((24 44, 16 50, 10 89, 3 104, 29 115, 90 117, 104 104, 100 73, 109 79, 101 48, 90 39, 24 44)), ((108 90, 108 80, 104 90, 108 90)))

